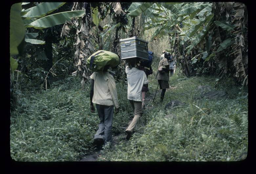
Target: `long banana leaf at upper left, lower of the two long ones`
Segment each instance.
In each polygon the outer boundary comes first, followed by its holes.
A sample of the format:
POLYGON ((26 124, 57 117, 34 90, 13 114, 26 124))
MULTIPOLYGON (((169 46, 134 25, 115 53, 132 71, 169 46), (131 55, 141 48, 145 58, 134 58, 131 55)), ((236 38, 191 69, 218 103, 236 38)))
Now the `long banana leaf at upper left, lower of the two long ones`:
POLYGON ((54 25, 64 24, 67 21, 71 21, 74 18, 81 17, 85 14, 84 10, 77 11, 65 11, 61 13, 55 13, 49 16, 45 16, 35 20, 28 24, 27 27, 34 27, 36 29, 43 29, 52 27, 54 25))

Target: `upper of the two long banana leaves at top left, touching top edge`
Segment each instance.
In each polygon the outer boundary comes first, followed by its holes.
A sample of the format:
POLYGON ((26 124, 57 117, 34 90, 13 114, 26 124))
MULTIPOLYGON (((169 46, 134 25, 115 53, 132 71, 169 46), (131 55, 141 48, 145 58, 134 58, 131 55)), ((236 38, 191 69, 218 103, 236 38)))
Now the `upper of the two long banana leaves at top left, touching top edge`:
POLYGON ((57 8, 63 6, 65 2, 44 2, 32 8, 29 12, 27 12, 22 17, 24 18, 41 18, 45 15, 53 12, 57 8))

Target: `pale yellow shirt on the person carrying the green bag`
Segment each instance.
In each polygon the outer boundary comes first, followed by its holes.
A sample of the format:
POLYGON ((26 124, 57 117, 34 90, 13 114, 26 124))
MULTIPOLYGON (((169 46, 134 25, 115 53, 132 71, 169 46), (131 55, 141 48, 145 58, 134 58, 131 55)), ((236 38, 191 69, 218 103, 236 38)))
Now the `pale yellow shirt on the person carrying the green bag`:
POLYGON ((108 72, 94 72, 94 93, 92 102, 102 105, 115 105, 118 108, 117 88, 114 77, 108 72))

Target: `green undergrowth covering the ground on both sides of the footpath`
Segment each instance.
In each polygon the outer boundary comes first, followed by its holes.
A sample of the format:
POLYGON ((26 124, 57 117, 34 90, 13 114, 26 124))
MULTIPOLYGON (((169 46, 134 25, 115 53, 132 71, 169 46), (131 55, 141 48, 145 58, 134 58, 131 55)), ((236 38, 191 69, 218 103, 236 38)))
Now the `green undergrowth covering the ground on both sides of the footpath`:
MULTIPOLYGON (((248 144, 247 89, 228 79, 217 84, 215 77, 170 78, 170 89, 163 103, 157 94, 146 103, 142 131, 124 140, 124 128, 132 118, 127 100, 127 84, 117 83, 120 111, 114 114, 113 136, 123 134, 112 149, 104 149, 101 161, 237 161, 244 158, 248 144), (208 85, 224 90, 220 99, 195 99, 197 87, 208 85), (166 103, 179 100, 184 106, 164 110, 166 103), (172 117, 165 116, 172 114, 172 117), (146 119, 145 119, 146 118, 146 119)), ((149 76, 154 96, 157 81, 149 76)), ((11 112, 11 158, 16 161, 77 161, 91 153, 93 136, 99 122, 90 112, 87 83, 68 77, 53 83, 52 89, 27 91, 20 106, 11 112)))

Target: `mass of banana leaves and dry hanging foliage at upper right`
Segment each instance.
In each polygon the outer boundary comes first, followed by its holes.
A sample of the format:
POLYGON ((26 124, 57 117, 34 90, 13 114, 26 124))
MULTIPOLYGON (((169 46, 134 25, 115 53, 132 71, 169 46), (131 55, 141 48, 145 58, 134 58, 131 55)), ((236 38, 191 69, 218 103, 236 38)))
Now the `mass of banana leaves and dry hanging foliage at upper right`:
POLYGON ((247 36, 247 32, 240 32, 242 26, 244 31, 247 30, 247 12, 244 4, 133 3, 130 8, 133 16, 143 13, 149 18, 145 29, 157 28, 151 41, 169 35, 170 47, 175 48, 177 64, 180 64, 186 76, 204 73, 223 76, 229 71, 243 85, 247 85, 247 53, 243 47, 247 40, 244 35, 247 36), (135 8, 136 5, 143 8, 135 8), (208 57, 204 61, 207 63, 200 61, 205 51, 209 52, 211 57, 214 55, 211 60, 208 57), (195 56, 198 59, 189 61, 195 56), (235 71, 232 68, 234 66, 235 71))

